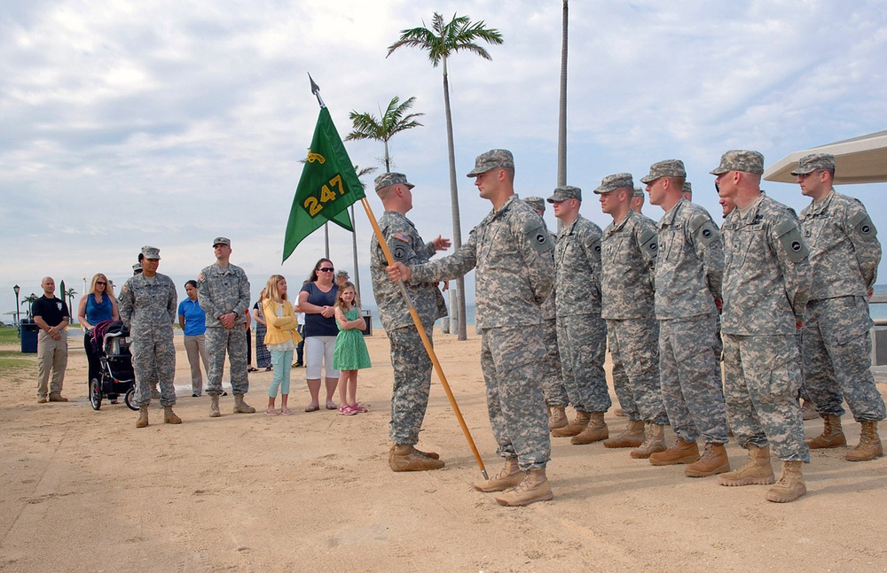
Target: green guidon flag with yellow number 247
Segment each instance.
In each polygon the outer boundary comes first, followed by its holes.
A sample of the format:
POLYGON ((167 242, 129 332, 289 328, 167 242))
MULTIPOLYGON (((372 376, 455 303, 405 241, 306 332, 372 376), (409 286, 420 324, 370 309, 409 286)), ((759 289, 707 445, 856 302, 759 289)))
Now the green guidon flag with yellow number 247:
POLYGON ((283 260, 286 261, 293 254, 302 239, 326 221, 353 230, 346 209, 364 197, 364 188, 357 179, 354 165, 341 143, 330 112, 322 107, 302 169, 302 178, 295 190, 293 208, 289 212, 287 234, 283 240, 283 260))

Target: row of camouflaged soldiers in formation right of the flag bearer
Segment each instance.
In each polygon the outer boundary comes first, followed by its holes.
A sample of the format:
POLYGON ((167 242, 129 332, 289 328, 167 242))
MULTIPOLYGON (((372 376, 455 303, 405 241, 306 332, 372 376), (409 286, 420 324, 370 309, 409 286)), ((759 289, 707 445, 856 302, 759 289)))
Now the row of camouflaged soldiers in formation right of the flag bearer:
MULTIPOLYGON (((658 225, 632 210, 631 174, 609 175, 594 190, 614 220, 602 231, 578 214, 581 190, 560 187, 548 198, 562 223, 554 236, 556 293, 543 306, 553 436, 634 447, 632 458, 687 464, 687 476, 718 475, 723 485, 773 484, 773 447, 784 463, 767 499, 791 501, 805 493, 800 464, 809 461, 808 447, 846 445, 846 399, 862 424, 846 459, 882 455, 876 424, 884 404, 868 368, 867 298, 881 259, 875 226, 859 200, 832 188, 831 156, 805 157, 792 173, 812 198, 800 218, 760 190, 763 172, 757 151, 727 152, 711 171, 726 218, 720 229, 686 200, 679 160, 658 162, 641 179, 665 211, 658 225), (603 417, 607 342, 628 416, 616 437, 603 417), (799 392, 825 421, 806 443, 799 392), (572 422, 568 404, 577 411, 572 422), (669 422, 678 441, 667 448, 669 422), (734 471, 724 448, 728 428, 750 455, 734 471)), ((525 201, 544 212, 541 198, 525 201)))

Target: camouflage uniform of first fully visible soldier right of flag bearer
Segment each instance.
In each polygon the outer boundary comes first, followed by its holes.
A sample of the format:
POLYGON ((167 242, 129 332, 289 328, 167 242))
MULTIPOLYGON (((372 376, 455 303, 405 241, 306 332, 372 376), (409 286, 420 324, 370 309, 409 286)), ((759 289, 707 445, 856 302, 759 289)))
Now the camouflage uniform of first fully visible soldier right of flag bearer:
POLYGON ((600 318, 600 227, 582 215, 561 228, 554 247, 557 342, 563 385, 579 412, 606 412, 607 323, 600 318))

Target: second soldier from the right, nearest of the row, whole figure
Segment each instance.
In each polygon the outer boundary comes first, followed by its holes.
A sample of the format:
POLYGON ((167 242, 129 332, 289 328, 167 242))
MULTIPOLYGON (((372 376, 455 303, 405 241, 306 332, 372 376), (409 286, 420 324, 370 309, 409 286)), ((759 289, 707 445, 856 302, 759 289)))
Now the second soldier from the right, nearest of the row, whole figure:
POLYGON ((782 474, 766 499, 784 503, 807 492, 795 332, 811 275, 797 219, 761 191, 763 173, 764 156, 744 150, 727 151, 711 171, 718 195, 735 204, 724 221, 724 387, 730 428, 749 451, 749 461, 718 476, 718 484, 773 484, 773 445, 782 474))

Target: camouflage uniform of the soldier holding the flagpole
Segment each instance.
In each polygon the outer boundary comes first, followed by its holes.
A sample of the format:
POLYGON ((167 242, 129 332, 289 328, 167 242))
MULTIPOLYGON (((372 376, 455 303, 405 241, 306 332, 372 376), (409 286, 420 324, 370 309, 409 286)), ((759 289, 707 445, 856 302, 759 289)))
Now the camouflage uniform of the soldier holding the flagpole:
POLYGON ((545 356, 539 305, 552 287, 551 239, 515 196, 475 227, 459 251, 412 267, 411 282, 455 279, 476 267, 477 330, 487 408, 499 455, 545 468, 551 440, 538 363, 545 356))

